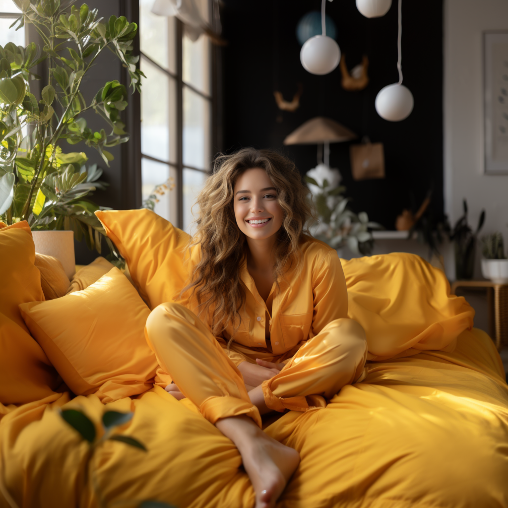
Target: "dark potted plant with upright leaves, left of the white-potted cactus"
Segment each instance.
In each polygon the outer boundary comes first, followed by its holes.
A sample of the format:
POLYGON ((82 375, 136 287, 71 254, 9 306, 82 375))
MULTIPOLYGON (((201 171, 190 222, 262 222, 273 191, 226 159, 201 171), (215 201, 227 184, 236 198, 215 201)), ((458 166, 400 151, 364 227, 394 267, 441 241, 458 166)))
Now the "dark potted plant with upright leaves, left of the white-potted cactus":
POLYGON ((478 227, 473 232, 467 223, 466 200, 463 200, 462 206, 464 214, 455 223, 450 234, 450 240, 454 242, 455 248, 455 276, 457 280, 469 280, 473 277, 477 237, 485 222, 485 210, 482 210, 478 227))

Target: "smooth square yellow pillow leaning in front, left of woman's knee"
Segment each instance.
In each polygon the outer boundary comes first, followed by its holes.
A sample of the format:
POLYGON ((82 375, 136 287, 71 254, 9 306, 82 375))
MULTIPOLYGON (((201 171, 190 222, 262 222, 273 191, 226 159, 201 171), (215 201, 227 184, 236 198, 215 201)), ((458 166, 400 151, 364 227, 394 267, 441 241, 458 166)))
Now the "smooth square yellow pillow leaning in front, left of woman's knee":
POLYGON ((106 403, 152 388, 158 365, 144 337, 150 310, 118 268, 82 291, 20 310, 75 394, 106 403))

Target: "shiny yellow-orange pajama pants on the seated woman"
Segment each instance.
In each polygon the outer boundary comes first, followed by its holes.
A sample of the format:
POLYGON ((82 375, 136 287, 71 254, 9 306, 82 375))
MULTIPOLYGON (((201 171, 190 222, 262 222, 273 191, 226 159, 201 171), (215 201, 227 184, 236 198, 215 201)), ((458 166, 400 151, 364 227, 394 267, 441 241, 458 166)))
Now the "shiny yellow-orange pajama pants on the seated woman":
MULTIPOLYGON (((145 335, 159 365, 207 420, 247 415, 261 426, 240 371, 196 314, 178 303, 163 303, 148 316, 145 335)), ((266 405, 276 411, 319 405, 316 400, 358 381, 366 359, 363 328, 351 319, 332 321, 263 383, 266 405)))

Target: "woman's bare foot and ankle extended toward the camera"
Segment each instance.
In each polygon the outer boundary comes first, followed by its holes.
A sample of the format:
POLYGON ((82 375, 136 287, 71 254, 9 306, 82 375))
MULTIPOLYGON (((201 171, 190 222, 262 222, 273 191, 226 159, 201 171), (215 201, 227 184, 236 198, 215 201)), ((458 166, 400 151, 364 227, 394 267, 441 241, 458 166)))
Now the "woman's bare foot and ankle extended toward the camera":
POLYGON ((236 444, 242 456, 256 493, 256 508, 273 508, 298 467, 298 452, 265 434, 246 416, 224 418, 215 425, 236 444))

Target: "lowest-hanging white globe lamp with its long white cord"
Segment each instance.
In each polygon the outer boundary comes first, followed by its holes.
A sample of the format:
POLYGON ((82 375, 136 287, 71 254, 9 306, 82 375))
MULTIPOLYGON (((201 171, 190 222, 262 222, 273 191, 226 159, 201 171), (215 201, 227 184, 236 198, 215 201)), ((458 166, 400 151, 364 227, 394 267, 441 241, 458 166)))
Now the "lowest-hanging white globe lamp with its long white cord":
POLYGON ((399 0, 399 35, 397 69, 399 70, 399 82, 387 85, 380 89, 375 107, 377 114, 391 122, 399 122, 407 118, 415 105, 411 91, 402 84, 402 0, 399 0))

